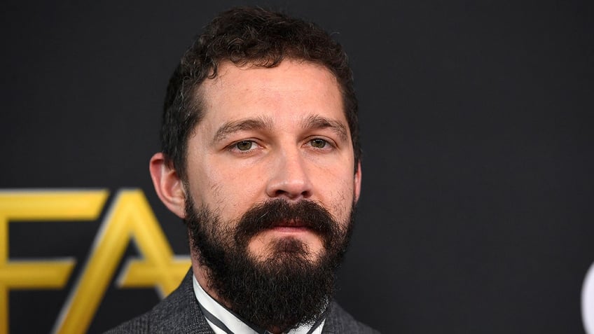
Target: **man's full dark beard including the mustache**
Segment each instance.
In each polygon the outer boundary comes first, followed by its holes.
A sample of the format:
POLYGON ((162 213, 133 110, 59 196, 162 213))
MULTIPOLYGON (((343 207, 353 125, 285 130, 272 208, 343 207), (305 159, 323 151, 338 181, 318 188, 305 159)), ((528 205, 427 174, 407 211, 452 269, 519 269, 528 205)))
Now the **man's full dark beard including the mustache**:
POLYGON ((206 207, 196 210, 186 200, 185 221, 193 251, 208 268, 208 287, 220 301, 251 325, 287 331, 324 314, 350 240, 353 211, 354 204, 340 224, 316 202, 270 200, 252 207, 234 224, 221 221, 206 207), (279 237, 270 242, 265 256, 249 253, 249 242, 258 233, 287 222, 314 232, 324 248, 312 253, 299 239, 279 237))

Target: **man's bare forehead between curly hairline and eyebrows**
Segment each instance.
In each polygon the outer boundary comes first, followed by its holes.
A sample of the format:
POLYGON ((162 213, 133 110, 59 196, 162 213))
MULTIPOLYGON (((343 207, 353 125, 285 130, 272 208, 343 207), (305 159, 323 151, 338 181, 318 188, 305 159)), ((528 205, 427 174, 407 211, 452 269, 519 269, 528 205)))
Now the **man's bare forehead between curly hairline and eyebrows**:
POLYGON ((346 122, 340 86, 326 67, 284 60, 277 67, 222 62, 198 90, 202 120, 215 123, 254 115, 319 115, 346 122))

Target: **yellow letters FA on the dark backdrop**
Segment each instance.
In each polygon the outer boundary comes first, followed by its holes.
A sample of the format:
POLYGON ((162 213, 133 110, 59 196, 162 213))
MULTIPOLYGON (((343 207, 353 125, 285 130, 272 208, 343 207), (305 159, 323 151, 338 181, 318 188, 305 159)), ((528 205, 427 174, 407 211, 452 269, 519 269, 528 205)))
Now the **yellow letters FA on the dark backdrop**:
MULTIPOLYGON (((8 223, 96 221, 107 190, 0 192, 0 333, 8 333, 8 291, 62 288, 74 258, 16 260, 8 256, 8 223)), ((154 287, 161 298, 177 287, 190 267, 188 256, 175 256, 141 190, 120 190, 104 215, 81 275, 62 307, 53 333, 85 333, 114 277, 130 241, 141 258, 127 259, 116 284, 154 287)))

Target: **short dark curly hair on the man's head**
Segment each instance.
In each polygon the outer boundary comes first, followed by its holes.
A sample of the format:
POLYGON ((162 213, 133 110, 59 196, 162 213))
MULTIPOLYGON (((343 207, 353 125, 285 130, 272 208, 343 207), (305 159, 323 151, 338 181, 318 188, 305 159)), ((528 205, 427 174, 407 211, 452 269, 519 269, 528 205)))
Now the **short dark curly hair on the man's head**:
POLYGON ((197 94, 200 84, 215 78, 224 61, 275 67, 285 58, 321 64, 336 77, 357 171, 361 159, 357 98, 342 46, 313 23, 262 8, 238 7, 221 13, 205 27, 181 57, 167 86, 161 145, 167 164, 173 164, 181 179, 186 179, 188 136, 202 118, 202 99, 197 94))

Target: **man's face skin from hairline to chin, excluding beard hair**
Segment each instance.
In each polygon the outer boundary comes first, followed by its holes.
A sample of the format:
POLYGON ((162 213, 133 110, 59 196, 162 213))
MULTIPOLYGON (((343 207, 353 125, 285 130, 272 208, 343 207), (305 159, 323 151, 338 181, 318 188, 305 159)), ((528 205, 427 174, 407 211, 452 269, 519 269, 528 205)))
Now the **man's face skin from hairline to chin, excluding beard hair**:
MULTIPOLYGON (((361 169, 354 172, 342 96, 327 69, 291 60, 271 69, 226 62, 200 94, 204 116, 188 138, 186 197, 216 215, 223 226, 212 228, 233 232, 258 204, 308 200, 347 230, 361 169)), ((324 238, 306 225, 275 222, 247 240, 247 253, 265 262, 278 244, 296 241, 315 263, 324 238)))

